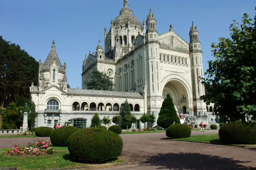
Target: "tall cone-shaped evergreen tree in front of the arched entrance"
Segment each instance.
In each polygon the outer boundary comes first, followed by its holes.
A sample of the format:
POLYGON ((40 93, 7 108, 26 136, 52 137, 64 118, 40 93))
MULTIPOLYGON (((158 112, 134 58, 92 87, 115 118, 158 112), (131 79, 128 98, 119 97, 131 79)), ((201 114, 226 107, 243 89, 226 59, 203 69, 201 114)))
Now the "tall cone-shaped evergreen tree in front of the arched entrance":
POLYGON ((178 118, 177 112, 174 108, 172 97, 167 94, 165 100, 162 103, 162 107, 157 119, 157 124, 167 129, 167 127, 171 126, 174 122, 180 123, 180 119, 178 118))

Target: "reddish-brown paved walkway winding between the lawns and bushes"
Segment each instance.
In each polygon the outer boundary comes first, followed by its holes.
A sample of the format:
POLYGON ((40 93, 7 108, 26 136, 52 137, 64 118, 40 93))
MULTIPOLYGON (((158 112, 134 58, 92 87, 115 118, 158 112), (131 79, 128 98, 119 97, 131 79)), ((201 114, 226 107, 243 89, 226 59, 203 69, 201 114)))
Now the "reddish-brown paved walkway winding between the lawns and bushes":
MULTIPOLYGON (((191 135, 217 133, 192 131, 191 135)), ((121 134, 124 147, 120 159, 125 166, 101 170, 248 170, 256 169, 256 147, 236 147, 163 140, 165 133, 121 134)), ((49 138, 43 138, 48 140, 49 138)), ((31 138, 0 138, 0 148, 12 147, 31 138)), ((25 145, 24 144, 24 145, 25 145)))

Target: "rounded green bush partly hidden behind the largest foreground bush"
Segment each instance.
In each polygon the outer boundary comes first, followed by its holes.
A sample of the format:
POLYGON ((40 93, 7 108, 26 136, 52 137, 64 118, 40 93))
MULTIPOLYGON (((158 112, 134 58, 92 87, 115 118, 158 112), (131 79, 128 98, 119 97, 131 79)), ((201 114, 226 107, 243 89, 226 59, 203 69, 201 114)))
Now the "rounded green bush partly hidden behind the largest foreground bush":
POLYGON ((74 126, 63 126, 56 128, 50 136, 51 143, 54 146, 68 146, 67 141, 69 136, 78 130, 80 129, 74 126))

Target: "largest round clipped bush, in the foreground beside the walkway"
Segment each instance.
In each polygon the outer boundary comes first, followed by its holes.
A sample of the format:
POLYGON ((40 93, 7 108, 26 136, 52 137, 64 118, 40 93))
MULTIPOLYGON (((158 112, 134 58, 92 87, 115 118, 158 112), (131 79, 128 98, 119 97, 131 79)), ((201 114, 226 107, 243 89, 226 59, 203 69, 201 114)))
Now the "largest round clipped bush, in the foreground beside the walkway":
POLYGON ((86 128, 68 139, 69 153, 79 161, 103 163, 121 155, 123 141, 118 134, 103 128, 86 128))

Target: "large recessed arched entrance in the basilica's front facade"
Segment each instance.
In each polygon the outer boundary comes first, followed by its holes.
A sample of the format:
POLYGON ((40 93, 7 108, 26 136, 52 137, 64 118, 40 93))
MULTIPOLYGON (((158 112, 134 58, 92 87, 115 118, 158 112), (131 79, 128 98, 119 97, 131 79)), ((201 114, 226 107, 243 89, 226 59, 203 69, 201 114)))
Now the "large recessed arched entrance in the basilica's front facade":
POLYGON ((178 113, 191 114, 190 111, 190 95, 187 89, 187 85, 181 80, 170 80, 168 81, 162 91, 163 100, 167 94, 173 99, 175 109, 178 113))

